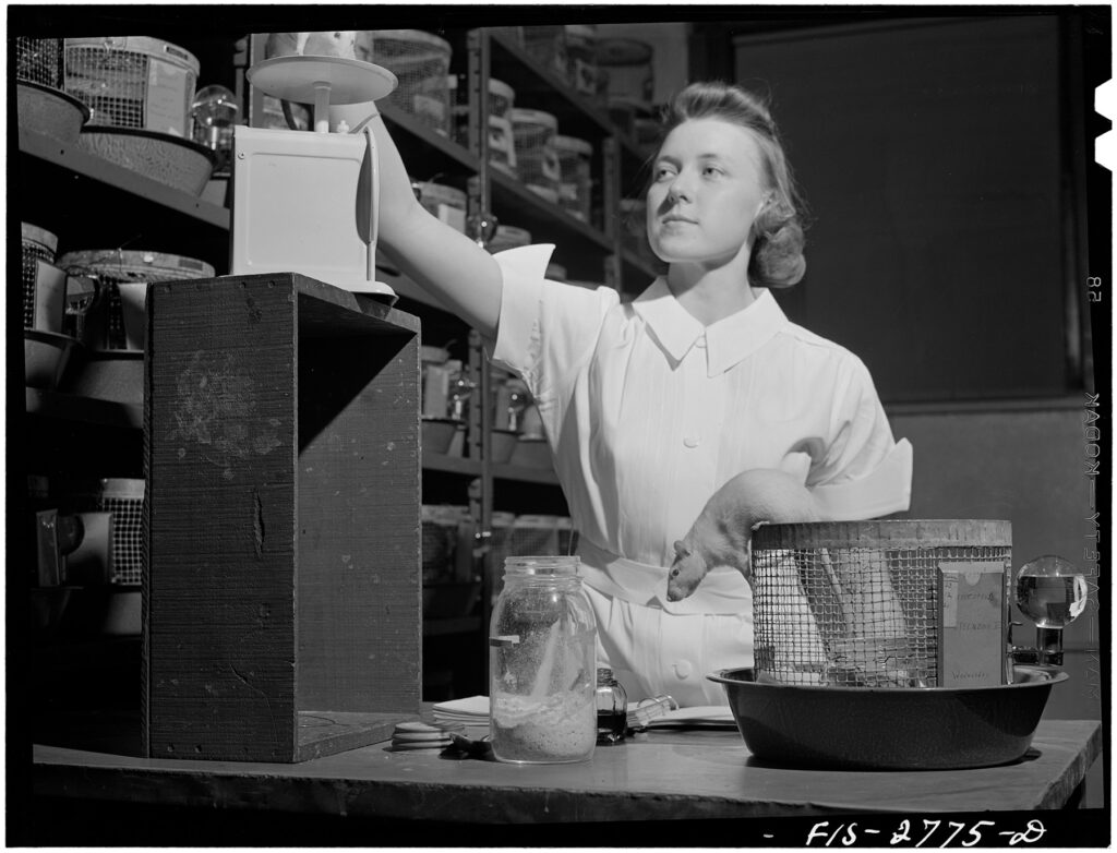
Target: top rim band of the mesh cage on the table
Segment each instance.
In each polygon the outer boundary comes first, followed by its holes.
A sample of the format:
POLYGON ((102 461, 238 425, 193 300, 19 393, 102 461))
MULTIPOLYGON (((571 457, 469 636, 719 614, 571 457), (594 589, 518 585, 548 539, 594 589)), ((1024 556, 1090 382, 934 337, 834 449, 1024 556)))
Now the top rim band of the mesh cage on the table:
POLYGON ((814 521, 761 525, 753 549, 771 548, 1011 548, 1012 523, 999 519, 814 521))

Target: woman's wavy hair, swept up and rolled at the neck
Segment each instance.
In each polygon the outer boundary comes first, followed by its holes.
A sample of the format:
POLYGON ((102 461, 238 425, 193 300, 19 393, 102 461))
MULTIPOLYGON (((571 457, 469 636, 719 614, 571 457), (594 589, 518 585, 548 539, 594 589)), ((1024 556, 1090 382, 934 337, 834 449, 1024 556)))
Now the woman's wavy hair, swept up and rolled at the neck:
POLYGON ((756 138, 771 197, 753 222, 748 280, 756 287, 796 284, 806 270, 802 202, 767 105, 739 86, 693 83, 666 108, 663 137, 690 118, 719 118, 744 127, 756 138))

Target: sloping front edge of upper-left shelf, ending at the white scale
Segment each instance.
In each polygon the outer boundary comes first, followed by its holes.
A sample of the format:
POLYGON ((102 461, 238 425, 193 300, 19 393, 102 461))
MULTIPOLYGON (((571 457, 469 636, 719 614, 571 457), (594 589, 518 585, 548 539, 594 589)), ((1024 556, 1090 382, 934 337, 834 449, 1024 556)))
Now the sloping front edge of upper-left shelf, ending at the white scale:
MULTIPOLYGON (((213 228, 229 230, 229 211, 226 208, 202 201, 197 195, 175 190, 133 172, 131 169, 111 163, 103 157, 83 151, 77 145, 67 145, 52 136, 20 127, 19 150, 23 154, 30 154, 52 165, 69 170, 82 178, 108 184, 140 197, 146 202, 168 208, 213 228)), ((59 199, 58 201, 64 202, 65 200, 59 199)))

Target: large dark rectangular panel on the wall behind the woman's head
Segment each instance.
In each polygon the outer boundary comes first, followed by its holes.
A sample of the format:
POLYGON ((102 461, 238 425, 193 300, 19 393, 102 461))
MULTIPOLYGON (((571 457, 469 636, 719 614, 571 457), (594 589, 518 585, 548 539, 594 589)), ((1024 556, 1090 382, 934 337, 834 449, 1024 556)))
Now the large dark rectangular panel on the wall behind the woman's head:
POLYGON ((777 298, 858 353, 886 401, 1077 390, 1063 45, 1050 15, 735 40, 810 212, 806 277, 777 298))

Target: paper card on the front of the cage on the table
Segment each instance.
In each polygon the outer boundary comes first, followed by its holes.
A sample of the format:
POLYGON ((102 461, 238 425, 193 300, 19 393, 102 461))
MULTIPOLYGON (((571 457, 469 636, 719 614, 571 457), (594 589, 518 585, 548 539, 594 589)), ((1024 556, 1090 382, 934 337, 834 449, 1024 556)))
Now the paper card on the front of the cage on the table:
POLYGON ((1003 563, 938 564, 938 686, 1004 680, 1003 563))

